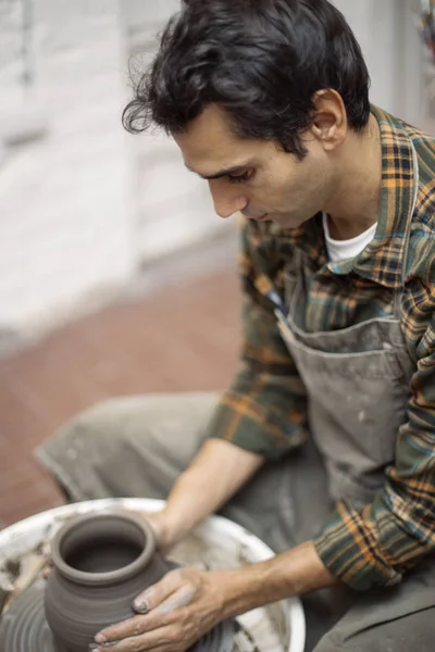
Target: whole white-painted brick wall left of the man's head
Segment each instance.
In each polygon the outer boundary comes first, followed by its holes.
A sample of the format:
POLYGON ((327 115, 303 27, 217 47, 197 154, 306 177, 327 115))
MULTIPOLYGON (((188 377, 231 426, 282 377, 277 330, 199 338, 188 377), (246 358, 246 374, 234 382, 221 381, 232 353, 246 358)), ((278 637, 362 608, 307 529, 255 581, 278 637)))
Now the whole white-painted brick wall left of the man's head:
POLYGON ((221 225, 172 142, 121 126, 129 49, 154 43, 178 2, 30 1, 35 84, 26 92, 22 3, 8 7, 0 8, 0 140, 32 125, 47 134, 8 150, 0 164, 0 340, 98 305, 142 261, 221 225))

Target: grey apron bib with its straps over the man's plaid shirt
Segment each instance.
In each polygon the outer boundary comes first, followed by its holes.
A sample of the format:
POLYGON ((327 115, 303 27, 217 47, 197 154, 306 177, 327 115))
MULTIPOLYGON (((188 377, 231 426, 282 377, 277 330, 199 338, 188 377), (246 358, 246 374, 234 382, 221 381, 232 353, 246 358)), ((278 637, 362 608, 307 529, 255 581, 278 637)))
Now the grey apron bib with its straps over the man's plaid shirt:
MULTIPOLYGON (((413 167, 415 189, 406 251, 419 179, 414 149, 413 167)), ((330 496, 334 500, 348 497, 362 505, 383 486, 385 468, 395 459, 398 429, 407 419, 415 365, 400 326, 403 288, 395 292, 390 318, 309 333, 304 328, 303 255, 297 250, 285 271, 288 312, 276 310, 278 327, 307 390, 309 427, 323 457, 330 496)))

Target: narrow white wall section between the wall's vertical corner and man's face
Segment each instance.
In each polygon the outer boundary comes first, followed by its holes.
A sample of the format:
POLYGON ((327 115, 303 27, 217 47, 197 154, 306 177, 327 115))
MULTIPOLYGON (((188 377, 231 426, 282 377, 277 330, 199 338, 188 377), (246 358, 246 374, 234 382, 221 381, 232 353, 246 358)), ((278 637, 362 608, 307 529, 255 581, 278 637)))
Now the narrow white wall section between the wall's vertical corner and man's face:
MULTIPOLYGON (((179 8, 179 0, 129 0, 123 4, 126 49, 133 68, 142 70, 156 34, 179 8), (138 54, 138 58, 136 58, 138 54)), ((189 173, 175 142, 164 135, 132 139, 136 170, 136 243, 138 258, 150 264, 225 228, 214 213, 208 185, 189 173)), ((226 226, 227 228, 227 226, 226 226)))

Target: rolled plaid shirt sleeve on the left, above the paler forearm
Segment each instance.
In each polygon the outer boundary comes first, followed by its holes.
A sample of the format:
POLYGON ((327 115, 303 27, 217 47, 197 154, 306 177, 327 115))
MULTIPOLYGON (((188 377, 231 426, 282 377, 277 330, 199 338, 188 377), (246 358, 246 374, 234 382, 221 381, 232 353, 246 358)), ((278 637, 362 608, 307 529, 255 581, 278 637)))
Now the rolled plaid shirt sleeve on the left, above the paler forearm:
POLYGON ((274 305, 257 289, 279 289, 282 262, 273 238, 254 242, 254 225, 241 230, 243 347, 240 366, 222 396, 208 436, 231 441, 266 459, 279 459, 307 440, 307 398, 296 366, 279 335, 274 305), (266 277, 261 261, 268 261, 266 277), (273 278, 270 277, 271 265, 273 278))

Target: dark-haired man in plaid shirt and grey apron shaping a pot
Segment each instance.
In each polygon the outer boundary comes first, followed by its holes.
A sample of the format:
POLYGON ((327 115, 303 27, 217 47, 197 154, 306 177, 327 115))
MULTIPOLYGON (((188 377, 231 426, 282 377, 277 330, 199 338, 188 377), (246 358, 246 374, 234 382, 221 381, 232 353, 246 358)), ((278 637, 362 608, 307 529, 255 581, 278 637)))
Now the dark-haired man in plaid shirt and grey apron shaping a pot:
POLYGON ((326 0, 186 0, 137 86, 127 128, 245 216, 240 368, 219 401, 98 405, 39 456, 72 500, 169 494, 162 547, 221 510, 281 554, 172 573, 97 645, 184 652, 306 595, 316 652, 433 650, 435 145, 368 88, 326 0))

